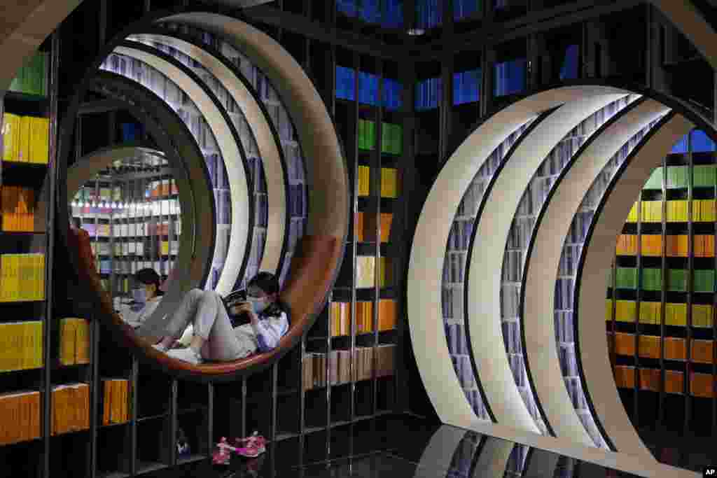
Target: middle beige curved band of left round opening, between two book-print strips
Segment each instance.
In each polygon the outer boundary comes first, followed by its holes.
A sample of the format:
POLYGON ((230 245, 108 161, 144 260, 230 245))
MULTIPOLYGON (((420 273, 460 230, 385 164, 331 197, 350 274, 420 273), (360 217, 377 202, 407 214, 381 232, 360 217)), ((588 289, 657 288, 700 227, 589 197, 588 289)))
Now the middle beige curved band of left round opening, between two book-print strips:
MULTIPOLYGON (((170 45, 188 55, 194 61, 199 62, 206 70, 212 72, 212 75, 217 77, 219 82, 222 82, 222 86, 227 89, 229 95, 232 95, 234 101, 241 108, 257 142, 267 182, 267 236, 260 269, 278 271, 281 249, 286 235, 287 185, 284 181, 284 166, 281 161, 279 146, 275 142, 267 118, 263 115, 256 98, 247 89, 244 82, 239 80, 224 63, 194 44, 160 34, 130 35, 128 39, 170 45)), ((232 219, 232 224, 234 224, 233 221, 234 219, 232 219)))

